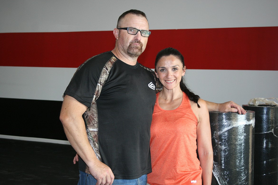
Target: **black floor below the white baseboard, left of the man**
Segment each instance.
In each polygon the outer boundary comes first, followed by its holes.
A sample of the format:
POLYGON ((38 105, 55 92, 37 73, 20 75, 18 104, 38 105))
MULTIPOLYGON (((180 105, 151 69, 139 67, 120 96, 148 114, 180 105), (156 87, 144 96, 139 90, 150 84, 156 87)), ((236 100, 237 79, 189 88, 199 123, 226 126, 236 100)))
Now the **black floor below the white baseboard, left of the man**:
POLYGON ((77 185, 71 145, 0 138, 0 184, 77 185))

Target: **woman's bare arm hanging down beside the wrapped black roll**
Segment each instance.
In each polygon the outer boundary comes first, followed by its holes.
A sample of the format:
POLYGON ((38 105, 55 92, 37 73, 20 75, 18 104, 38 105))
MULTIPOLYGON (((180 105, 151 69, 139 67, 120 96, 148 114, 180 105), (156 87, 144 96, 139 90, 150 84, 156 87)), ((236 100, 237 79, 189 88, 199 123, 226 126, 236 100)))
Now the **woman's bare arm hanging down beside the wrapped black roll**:
POLYGON ((198 115, 197 124, 197 149, 202 168, 203 185, 210 185, 212 179, 212 165, 213 165, 213 151, 211 143, 211 132, 209 122, 209 111, 206 102, 199 99, 198 104, 200 108, 196 109, 198 115))

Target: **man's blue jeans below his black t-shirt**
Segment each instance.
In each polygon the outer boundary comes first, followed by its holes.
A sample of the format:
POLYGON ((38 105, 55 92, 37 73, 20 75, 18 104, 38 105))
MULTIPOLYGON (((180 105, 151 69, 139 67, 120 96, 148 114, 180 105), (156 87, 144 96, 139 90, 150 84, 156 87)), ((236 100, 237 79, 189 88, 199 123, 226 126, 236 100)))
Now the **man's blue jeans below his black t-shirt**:
MULTIPOLYGON (((96 179, 83 171, 79 171, 79 181, 78 185, 95 185, 96 179)), ((114 179, 113 185, 146 185, 147 184, 147 174, 142 175, 137 179, 114 179)))

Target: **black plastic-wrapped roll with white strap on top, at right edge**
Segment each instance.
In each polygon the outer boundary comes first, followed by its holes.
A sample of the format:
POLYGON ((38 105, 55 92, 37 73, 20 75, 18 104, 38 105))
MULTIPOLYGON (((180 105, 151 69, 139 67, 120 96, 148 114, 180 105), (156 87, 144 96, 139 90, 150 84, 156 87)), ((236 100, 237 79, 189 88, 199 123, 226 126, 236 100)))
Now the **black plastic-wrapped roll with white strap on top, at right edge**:
POLYGON ((278 184, 278 106, 243 105, 255 111, 254 184, 278 184))

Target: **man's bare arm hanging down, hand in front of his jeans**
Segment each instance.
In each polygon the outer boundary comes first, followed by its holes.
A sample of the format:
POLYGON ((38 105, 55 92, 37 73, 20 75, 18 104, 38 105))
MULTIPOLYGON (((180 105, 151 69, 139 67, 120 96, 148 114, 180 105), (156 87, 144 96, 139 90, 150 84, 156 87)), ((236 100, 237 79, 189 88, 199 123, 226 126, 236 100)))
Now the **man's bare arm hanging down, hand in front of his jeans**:
POLYGON ((62 104, 60 120, 69 143, 88 165, 91 175, 97 179, 97 184, 111 185, 114 181, 111 169, 96 158, 96 154, 88 141, 82 118, 86 110, 85 105, 66 95, 62 104))

